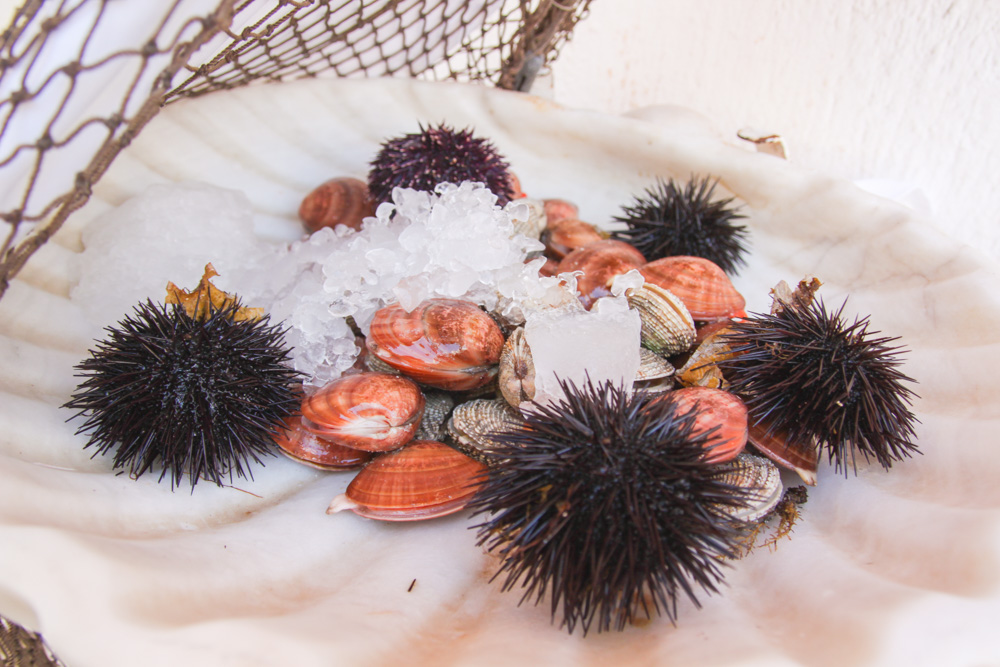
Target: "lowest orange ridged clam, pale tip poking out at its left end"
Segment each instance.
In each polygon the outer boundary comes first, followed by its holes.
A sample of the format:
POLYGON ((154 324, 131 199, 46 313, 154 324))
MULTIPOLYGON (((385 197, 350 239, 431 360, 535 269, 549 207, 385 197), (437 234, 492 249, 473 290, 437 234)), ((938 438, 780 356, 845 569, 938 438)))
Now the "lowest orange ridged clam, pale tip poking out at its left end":
POLYGON ((486 479, 486 466, 434 440, 417 440, 361 469, 327 509, 381 521, 419 521, 463 509, 486 479))

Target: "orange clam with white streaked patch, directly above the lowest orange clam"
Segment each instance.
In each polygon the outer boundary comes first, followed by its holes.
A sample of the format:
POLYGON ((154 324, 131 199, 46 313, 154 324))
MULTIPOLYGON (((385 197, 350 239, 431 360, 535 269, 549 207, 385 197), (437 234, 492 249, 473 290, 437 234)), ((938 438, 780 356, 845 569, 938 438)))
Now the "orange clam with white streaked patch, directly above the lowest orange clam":
POLYGON ((387 452, 413 438, 423 411, 423 394, 409 378, 356 373, 303 399, 302 427, 340 445, 387 452))

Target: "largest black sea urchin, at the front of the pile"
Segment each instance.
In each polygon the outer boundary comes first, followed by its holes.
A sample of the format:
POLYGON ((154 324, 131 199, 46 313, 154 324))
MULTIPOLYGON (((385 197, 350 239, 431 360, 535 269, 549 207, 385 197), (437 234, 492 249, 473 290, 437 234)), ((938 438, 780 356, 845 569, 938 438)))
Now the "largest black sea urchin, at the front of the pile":
POLYGON ((502 558, 504 590, 550 596, 570 632, 623 629, 653 611, 676 618, 678 594, 715 592, 733 557, 725 506, 743 492, 706 464, 694 413, 650 403, 610 383, 533 408, 522 429, 497 434, 496 465, 473 503, 487 515, 480 544, 502 558))

